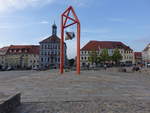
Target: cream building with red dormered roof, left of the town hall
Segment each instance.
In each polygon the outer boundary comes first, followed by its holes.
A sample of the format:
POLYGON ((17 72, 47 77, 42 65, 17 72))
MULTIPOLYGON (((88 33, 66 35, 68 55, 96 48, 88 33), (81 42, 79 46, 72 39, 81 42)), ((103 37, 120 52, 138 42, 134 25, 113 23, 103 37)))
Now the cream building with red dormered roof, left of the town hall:
POLYGON ((11 45, 6 48, 5 54, 1 55, 4 59, 0 65, 3 67, 14 69, 39 67, 39 46, 11 45))

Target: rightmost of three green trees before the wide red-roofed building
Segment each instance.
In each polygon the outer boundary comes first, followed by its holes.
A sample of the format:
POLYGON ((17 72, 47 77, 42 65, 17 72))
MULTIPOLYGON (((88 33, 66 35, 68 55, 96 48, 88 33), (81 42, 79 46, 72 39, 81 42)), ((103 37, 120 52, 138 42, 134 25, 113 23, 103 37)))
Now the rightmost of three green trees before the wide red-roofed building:
POLYGON ((112 61, 114 61, 116 64, 118 64, 120 62, 120 60, 122 60, 122 55, 120 54, 119 49, 115 49, 114 53, 111 57, 112 61))

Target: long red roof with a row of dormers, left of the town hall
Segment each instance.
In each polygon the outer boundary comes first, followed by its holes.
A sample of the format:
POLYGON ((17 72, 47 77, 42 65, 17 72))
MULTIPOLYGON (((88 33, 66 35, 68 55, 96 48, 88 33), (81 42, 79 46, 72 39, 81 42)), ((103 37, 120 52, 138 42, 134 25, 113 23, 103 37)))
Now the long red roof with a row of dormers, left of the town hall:
POLYGON ((39 51, 38 45, 11 45, 7 54, 39 54, 39 51))

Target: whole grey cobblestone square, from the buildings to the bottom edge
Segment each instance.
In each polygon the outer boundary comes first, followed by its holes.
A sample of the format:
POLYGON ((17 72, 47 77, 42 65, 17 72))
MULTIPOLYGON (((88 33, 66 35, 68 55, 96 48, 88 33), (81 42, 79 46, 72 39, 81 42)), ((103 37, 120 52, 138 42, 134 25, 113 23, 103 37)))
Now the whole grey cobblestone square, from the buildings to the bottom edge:
POLYGON ((149 113, 149 86, 150 75, 142 73, 0 72, 0 91, 22 93, 14 113, 149 113))

